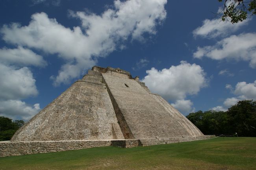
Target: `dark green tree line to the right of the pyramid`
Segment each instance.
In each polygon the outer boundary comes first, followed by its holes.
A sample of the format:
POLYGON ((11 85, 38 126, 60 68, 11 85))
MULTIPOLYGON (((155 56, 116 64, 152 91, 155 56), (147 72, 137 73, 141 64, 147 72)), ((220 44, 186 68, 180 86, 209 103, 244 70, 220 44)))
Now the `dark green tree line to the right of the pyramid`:
POLYGON ((256 101, 242 100, 227 111, 197 111, 186 116, 204 135, 256 137, 256 101))

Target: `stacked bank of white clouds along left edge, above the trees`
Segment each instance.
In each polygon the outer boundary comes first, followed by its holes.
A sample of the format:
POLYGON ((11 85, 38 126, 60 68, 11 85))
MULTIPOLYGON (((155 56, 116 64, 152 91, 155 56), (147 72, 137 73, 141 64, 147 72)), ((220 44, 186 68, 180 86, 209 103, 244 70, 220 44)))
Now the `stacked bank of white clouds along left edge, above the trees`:
POLYGON ((15 49, 0 49, 0 115, 12 119, 28 120, 39 110, 21 99, 38 94, 35 79, 28 65, 43 67, 43 57, 21 46, 15 49))

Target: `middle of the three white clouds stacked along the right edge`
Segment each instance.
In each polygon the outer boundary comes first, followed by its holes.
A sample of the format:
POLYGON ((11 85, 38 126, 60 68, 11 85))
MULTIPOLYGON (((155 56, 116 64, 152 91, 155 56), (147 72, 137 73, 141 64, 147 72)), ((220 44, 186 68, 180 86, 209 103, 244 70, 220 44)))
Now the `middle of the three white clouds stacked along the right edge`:
POLYGON ((249 61, 250 67, 256 68, 256 33, 232 35, 213 46, 198 47, 193 56, 195 58, 205 56, 215 60, 249 61))

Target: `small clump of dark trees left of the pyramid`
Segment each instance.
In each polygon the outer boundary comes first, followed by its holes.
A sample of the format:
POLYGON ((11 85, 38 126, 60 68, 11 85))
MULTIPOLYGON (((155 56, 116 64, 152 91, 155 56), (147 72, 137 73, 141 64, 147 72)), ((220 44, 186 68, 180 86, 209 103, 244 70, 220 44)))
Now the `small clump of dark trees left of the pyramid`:
POLYGON ((0 116, 0 141, 10 140, 14 133, 24 125, 23 120, 14 120, 0 116))

